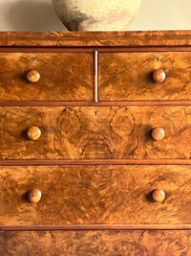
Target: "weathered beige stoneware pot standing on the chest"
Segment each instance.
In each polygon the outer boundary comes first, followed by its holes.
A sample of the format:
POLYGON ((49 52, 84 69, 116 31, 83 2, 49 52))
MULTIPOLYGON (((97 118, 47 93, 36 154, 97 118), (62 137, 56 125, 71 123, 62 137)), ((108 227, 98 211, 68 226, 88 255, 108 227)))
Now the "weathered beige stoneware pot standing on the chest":
POLYGON ((126 31, 141 0, 53 0, 69 31, 126 31))

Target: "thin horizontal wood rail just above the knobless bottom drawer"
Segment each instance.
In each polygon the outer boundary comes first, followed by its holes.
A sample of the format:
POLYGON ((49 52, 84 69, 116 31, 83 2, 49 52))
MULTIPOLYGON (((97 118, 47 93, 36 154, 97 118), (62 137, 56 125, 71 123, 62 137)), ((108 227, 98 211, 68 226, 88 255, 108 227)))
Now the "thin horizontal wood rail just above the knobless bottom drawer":
POLYGON ((72 224, 72 225, 1 225, 0 231, 34 230, 188 230, 191 224, 72 224))

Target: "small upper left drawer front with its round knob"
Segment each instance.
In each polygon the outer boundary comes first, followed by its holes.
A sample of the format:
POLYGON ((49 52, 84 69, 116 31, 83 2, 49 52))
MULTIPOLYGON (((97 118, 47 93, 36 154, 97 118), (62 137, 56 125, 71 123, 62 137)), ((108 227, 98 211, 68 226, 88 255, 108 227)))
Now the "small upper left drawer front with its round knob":
POLYGON ((4 53, 0 63, 0 101, 93 100, 91 54, 4 53))

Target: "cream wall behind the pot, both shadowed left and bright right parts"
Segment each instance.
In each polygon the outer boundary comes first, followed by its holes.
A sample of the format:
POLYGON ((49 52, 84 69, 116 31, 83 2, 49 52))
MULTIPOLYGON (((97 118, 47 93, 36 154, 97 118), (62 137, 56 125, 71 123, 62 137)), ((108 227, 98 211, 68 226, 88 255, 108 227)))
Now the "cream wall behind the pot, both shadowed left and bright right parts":
MULTIPOLYGON (((0 31, 64 30, 52 0, 0 0, 0 31)), ((191 30, 191 0, 142 0, 129 30, 191 30)))

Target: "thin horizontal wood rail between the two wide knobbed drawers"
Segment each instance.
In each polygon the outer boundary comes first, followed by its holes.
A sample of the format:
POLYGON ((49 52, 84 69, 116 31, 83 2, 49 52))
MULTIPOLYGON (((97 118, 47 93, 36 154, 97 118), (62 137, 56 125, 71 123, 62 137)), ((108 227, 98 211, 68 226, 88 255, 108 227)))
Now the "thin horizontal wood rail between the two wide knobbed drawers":
POLYGON ((0 160, 0 166, 49 166, 49 165, 191 165, 191 159, 18 159, 0 160))

